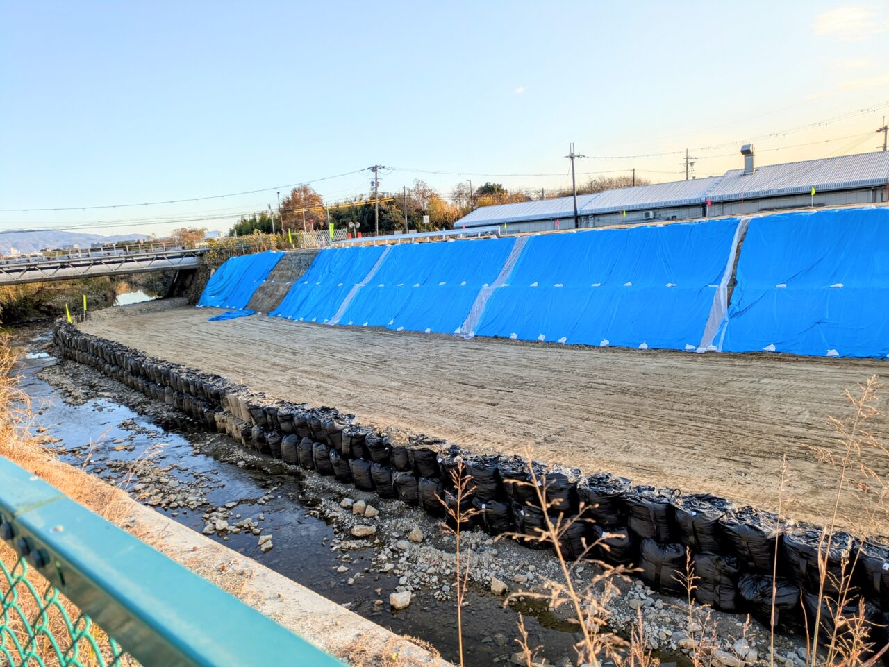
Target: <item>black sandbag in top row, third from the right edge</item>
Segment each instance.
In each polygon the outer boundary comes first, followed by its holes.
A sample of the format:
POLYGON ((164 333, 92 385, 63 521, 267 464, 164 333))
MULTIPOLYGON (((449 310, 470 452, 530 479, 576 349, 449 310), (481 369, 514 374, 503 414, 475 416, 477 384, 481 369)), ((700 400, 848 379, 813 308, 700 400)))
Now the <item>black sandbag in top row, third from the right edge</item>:
POLYGON ((763 575, 773 573, 775 542, 781 536, 777 514, 747 505, 725 512, 719 527, 731 547, 727 555, 737 556, 742 568, 763 575))

